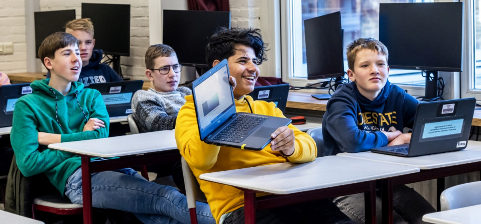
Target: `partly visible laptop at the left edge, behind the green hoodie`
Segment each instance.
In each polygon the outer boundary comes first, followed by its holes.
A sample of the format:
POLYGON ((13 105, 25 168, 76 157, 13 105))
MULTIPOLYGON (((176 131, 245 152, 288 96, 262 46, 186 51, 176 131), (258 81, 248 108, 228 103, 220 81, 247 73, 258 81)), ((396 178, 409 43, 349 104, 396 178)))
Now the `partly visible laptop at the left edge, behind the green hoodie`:
POLYGON ((4 85, 0 87, 0 127, 11 126, 15 103, 21 96, 31 94, 30 83, 4 85))

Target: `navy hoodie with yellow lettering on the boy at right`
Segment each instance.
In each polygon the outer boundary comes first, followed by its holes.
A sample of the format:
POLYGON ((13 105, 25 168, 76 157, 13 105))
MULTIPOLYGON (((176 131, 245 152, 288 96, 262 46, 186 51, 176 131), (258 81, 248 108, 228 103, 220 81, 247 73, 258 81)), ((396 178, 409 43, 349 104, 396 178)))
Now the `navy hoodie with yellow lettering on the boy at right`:
POLYGON ((318 156, 386 146, 388 139, 380 131, 412 128, 418 104, 417 99, 389 81, 374 101, 361 95, 355 82, 340 85, 322 118, 324 147, 318 156))

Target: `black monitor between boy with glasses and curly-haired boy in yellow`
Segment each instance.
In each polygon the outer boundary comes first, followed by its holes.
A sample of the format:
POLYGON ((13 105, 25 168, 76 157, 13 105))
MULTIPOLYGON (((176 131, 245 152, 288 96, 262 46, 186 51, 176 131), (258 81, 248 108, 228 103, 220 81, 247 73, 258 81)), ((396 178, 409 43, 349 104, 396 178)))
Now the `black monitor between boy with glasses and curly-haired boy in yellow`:
POLYGON ((230 11, 164 10, 163 43, 180 64, 207 68, 206 46, 219 27, 231 28, 230 11))

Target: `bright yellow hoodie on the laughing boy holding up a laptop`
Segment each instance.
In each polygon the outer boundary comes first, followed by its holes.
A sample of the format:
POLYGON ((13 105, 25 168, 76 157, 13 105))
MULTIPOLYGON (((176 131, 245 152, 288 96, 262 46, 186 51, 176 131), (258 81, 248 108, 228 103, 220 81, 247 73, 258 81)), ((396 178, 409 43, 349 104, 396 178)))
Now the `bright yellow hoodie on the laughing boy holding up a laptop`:
MULTIPOLYGON (((288 157, 282 156, 278 151, 272 151, 270 144, 261 151, 206 144, 199 137, 193 97, 189 95, 185 98, 187 102, 179 111, 175 128, 177 147, 189 163, 201 190, 206 194, 212 215, 217 223, 223 214, 233 212, 244 205, 244 193, 228 185, 201 180, 199 179, 201 174, 287 161, 304 163, 316 158, 317 148, 314 140, 292 124, 288 127, 294 130, 295 150, 288 157)), ((253 113, 284 117, 282 112, 275 108, 274 103, 253 101, 250 96, 245 96, 239 101, 236 100, 237 112, 250 112, 246 100, 249 101, 253 113)), ((261 196, 261 194, 257 194, 257 196, 261 196)))

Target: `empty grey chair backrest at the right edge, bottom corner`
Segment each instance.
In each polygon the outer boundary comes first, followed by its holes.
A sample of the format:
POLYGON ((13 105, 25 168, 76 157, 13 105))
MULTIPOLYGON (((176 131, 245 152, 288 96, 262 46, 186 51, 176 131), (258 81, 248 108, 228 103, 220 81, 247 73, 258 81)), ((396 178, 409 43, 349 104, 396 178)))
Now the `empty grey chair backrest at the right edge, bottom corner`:
POLYGON ((450 187, 441 193, 441 211, 481 204, 481 181, 450 187))

